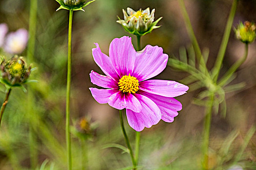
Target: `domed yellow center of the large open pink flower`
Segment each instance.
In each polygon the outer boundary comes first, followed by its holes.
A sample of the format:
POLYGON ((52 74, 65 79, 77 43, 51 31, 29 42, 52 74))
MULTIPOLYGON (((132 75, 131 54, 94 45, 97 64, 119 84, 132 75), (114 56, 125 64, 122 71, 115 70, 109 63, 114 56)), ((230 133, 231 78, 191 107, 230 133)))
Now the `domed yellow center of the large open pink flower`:
POLYGON ((118 84, 119 90, 124 93, 136 93, 139 90, 139 81, 130 74, 123 76, 118 84))

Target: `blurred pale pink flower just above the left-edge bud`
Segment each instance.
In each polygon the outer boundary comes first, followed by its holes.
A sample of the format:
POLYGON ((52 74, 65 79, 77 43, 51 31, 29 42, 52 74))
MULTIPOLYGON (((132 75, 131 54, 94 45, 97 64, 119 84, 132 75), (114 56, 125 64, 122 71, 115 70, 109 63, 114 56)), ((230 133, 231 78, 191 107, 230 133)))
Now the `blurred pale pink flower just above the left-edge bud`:
POLYGON ((27 41, 28 32, 21 28, 6 35, 3 49, 10 54, 20 54, 26 48, 27 41))

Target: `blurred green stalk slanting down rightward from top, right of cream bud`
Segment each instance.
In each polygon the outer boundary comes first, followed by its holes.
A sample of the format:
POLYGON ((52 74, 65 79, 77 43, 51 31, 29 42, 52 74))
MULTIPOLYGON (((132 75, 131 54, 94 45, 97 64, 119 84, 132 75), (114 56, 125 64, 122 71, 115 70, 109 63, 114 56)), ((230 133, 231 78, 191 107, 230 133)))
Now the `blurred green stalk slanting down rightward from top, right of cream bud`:
MULTIPOLYGON (((183 15, 183 18, 185 21, 185 26, 186 26, 187 32, 189 34, 190 40, 192 41, 192 45, 194 47, 196 57, 197 57, 198 61, 200 62, 200 64, 203 66, 204 70, 207 70, 202 52, 200 50, 200 47, 198 45, 198 42, 196 40, 194 31, 193 31, 192 24, 191 24, 188 12, 186 10, 184 1, 179 0, 179 5, 181 7, 181 12, 182 12, 182 15, 183 15)), ((208 74, 208 71, 206 71, 206 73, 208 74)))

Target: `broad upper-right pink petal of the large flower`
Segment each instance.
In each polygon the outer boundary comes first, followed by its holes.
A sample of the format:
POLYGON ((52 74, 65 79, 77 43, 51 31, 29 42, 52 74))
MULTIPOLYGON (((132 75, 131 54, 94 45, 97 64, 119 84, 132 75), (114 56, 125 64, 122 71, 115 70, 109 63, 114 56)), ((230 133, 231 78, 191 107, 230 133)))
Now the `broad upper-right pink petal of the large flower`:
POLYGON ((133 75, 139 81, 147 80, 161 73, 167 65, 168 55, 158 46, 147 45, 136 53, 133 75))

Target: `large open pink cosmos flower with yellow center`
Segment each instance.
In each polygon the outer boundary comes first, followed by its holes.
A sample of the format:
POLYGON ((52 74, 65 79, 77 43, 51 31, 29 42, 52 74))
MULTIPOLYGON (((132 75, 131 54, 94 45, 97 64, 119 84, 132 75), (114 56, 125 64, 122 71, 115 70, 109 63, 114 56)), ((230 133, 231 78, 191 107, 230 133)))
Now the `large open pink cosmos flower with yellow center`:
POLYGON ((94 61, 107 75, 93 70, 90 73, 94 85, 107 88, 89 88, 97 102, 120 110, 126 108, 128 123, 136 131, 150 128, 160 119, 173 121, 182 109, 173 97, 186 93, 189 87, 174 81, 148 80, 166 68, 168 55, 161 47, 147 45, 136 52, 131 38, 123 36, 110 43, 108 57, 95 45, 94 61))

